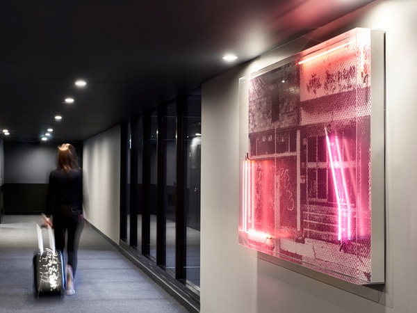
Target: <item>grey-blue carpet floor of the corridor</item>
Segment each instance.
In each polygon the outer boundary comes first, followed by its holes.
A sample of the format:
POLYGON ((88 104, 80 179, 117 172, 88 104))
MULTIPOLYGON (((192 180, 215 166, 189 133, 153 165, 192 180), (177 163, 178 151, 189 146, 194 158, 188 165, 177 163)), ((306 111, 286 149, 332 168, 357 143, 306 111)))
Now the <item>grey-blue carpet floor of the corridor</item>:
POLYGON ((41 216, 3 216, 0 312, 188 312, 88 224, 81 233, 76 294, 36 298, 36 223, 42 223, 41 216))

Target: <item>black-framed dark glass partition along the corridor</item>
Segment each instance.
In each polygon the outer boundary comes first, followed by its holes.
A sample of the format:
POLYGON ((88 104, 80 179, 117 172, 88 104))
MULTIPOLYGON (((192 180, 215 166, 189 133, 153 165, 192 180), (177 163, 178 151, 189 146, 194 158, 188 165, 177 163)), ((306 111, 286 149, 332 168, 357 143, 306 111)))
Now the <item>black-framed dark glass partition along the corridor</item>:
MULTIPOLYGON (((122 127, 121 241, 199 298, 201 92, 122 127), (137 218, 131 218, 137 216, 137 218)), ((165 276, 164 276, 165 277, 165 276)))

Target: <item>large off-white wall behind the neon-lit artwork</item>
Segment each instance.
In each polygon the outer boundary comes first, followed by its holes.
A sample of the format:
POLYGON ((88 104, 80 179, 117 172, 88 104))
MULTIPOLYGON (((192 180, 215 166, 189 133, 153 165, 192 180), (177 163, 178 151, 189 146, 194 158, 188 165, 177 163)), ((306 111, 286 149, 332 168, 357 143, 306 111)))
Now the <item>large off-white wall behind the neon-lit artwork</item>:
POLYGON ((415 0, 375 1, 203 85, 202 313, 417 312, 416 13, 415 0), (277 265, 238 245, 238 79, 355 27, 386 31, 386 284, 379 289, 277 265))

